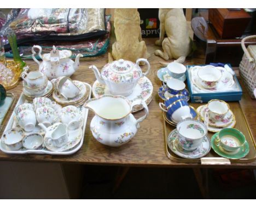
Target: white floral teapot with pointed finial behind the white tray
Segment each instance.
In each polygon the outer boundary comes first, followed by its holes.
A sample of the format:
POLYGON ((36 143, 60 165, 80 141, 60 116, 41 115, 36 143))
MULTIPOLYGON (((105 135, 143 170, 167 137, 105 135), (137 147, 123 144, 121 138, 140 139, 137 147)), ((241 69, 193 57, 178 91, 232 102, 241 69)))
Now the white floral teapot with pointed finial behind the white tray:
POLYGON ((59 51, 53 46, 53 50, 50 53, 42 55, 42 47, 34 45, 32 47, 32 58, 39 65, 39 71, 48 77, 48 79, 57 78, 60 76, 71 76, 78 69, 79 58, 83 57, 81 53, 77 54, 75 61, 70 59, 72 52, 69 50, 59 51), (36 52, 34 48, 38 48, 39 57, 43 60, 40 63, 34 55, 36 52))

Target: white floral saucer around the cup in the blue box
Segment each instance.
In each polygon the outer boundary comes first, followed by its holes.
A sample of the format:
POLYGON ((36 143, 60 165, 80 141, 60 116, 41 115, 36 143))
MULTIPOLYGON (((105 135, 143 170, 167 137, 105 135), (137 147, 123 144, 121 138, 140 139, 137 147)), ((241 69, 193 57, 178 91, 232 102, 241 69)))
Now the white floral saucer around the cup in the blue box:
POLYGON ((211 92, 212 91, 219 91, 219 90, 231 88, 232 85, 235 83, 234 78, 230 74, 230 72, 226 71, 225 68, 217 67, 222 72, 222 77, 220 78, 220 81, 218 82, 218 84, 215 88, 205 89, 199 83, 199 77, 197 75, 197 71, 199 70, 200 67, 202 67, 202 66, 194 66, 192 69, 190 69, 190 71, 191 71, 191 80, 192 80, 193 84, 199 89, 203 89, 203 90, 211 91, 211 92))

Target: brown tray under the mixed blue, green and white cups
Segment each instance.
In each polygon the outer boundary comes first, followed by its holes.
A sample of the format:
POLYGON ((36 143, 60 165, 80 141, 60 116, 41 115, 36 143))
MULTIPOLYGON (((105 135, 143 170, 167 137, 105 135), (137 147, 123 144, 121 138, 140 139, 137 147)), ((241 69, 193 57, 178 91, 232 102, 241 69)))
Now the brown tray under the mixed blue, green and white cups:
MULTIPOLYGON (((200 104, 197 104, 197 103, 189 103, 189 105, 193 106, 195 109, 200 106, 200 104)), ((201 164, 230 164, 230 163, 246 163, 246 162, 254 161, 256 158, 256 150, 255 150, 256 144, 253 139, 252 132, 249 129, 247 120, 245 118, 245 114, 243 113, 239 102, 229 102, 229 106, 231 111, 234 113, 236 117, 236 125, 234 126, 234 128, 240 130, 243 134, 245 134, 246 140, 249 144, 249 153, 246 157, 238 160, 226 159, 216 154, 216 152, 214 152, 213 149, 211 149, 211 151, 205 157, 202 157, 199 159, 187 159, 187 158, 179 157, 178 155, 174 154, 167 145, 167 137, 170 134, 170 132, 175 129, 175 127, 168 124, 163 117, 165 150, 166 150, 167 157, 170 158, 170 160, 176 161, 176 162, 201 163, 201 164)), ((208 137, 210 139, 213 136, 213 134, 214 134, 213 132, 208 131, 208 137)))

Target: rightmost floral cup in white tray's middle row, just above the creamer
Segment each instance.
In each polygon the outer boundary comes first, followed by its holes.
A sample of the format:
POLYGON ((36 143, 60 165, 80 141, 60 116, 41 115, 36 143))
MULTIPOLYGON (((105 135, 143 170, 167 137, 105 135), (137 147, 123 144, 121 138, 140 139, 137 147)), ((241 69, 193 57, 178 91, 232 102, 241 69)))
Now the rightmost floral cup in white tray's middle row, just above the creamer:
POLYGON ((81 115, 75 106, 66 106, 61 109, 60 119, 63 124, 67 124, 69 130, 78 129, 81 115))

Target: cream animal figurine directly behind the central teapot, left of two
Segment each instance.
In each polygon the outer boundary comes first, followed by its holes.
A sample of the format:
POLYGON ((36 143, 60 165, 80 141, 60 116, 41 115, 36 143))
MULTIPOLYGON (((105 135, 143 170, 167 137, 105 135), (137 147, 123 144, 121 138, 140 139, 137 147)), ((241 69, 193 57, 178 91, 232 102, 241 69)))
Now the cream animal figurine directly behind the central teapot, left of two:
POLYGON ((112 54, 108 54, 108 62, 119 59, 136 62, 138 58, 149 57, 141 37, 140 21, 137 9, 115 9, 114 27, 117 41, 112 45, 112 54))

